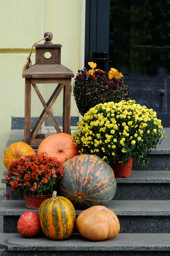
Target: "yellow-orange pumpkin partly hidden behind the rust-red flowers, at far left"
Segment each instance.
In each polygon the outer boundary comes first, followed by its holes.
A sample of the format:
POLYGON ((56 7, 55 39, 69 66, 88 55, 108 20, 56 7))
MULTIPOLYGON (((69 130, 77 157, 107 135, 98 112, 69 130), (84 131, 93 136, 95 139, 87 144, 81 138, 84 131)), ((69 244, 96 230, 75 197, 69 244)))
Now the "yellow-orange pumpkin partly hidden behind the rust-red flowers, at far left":
POLYGON ((25 142, 16 142, 10 145, 4 155, 4 165, 7 170, 10 170, 10 165, 13 161, 17 160, 21 156, 34 155, 36 152, 34 149, 25 142))

